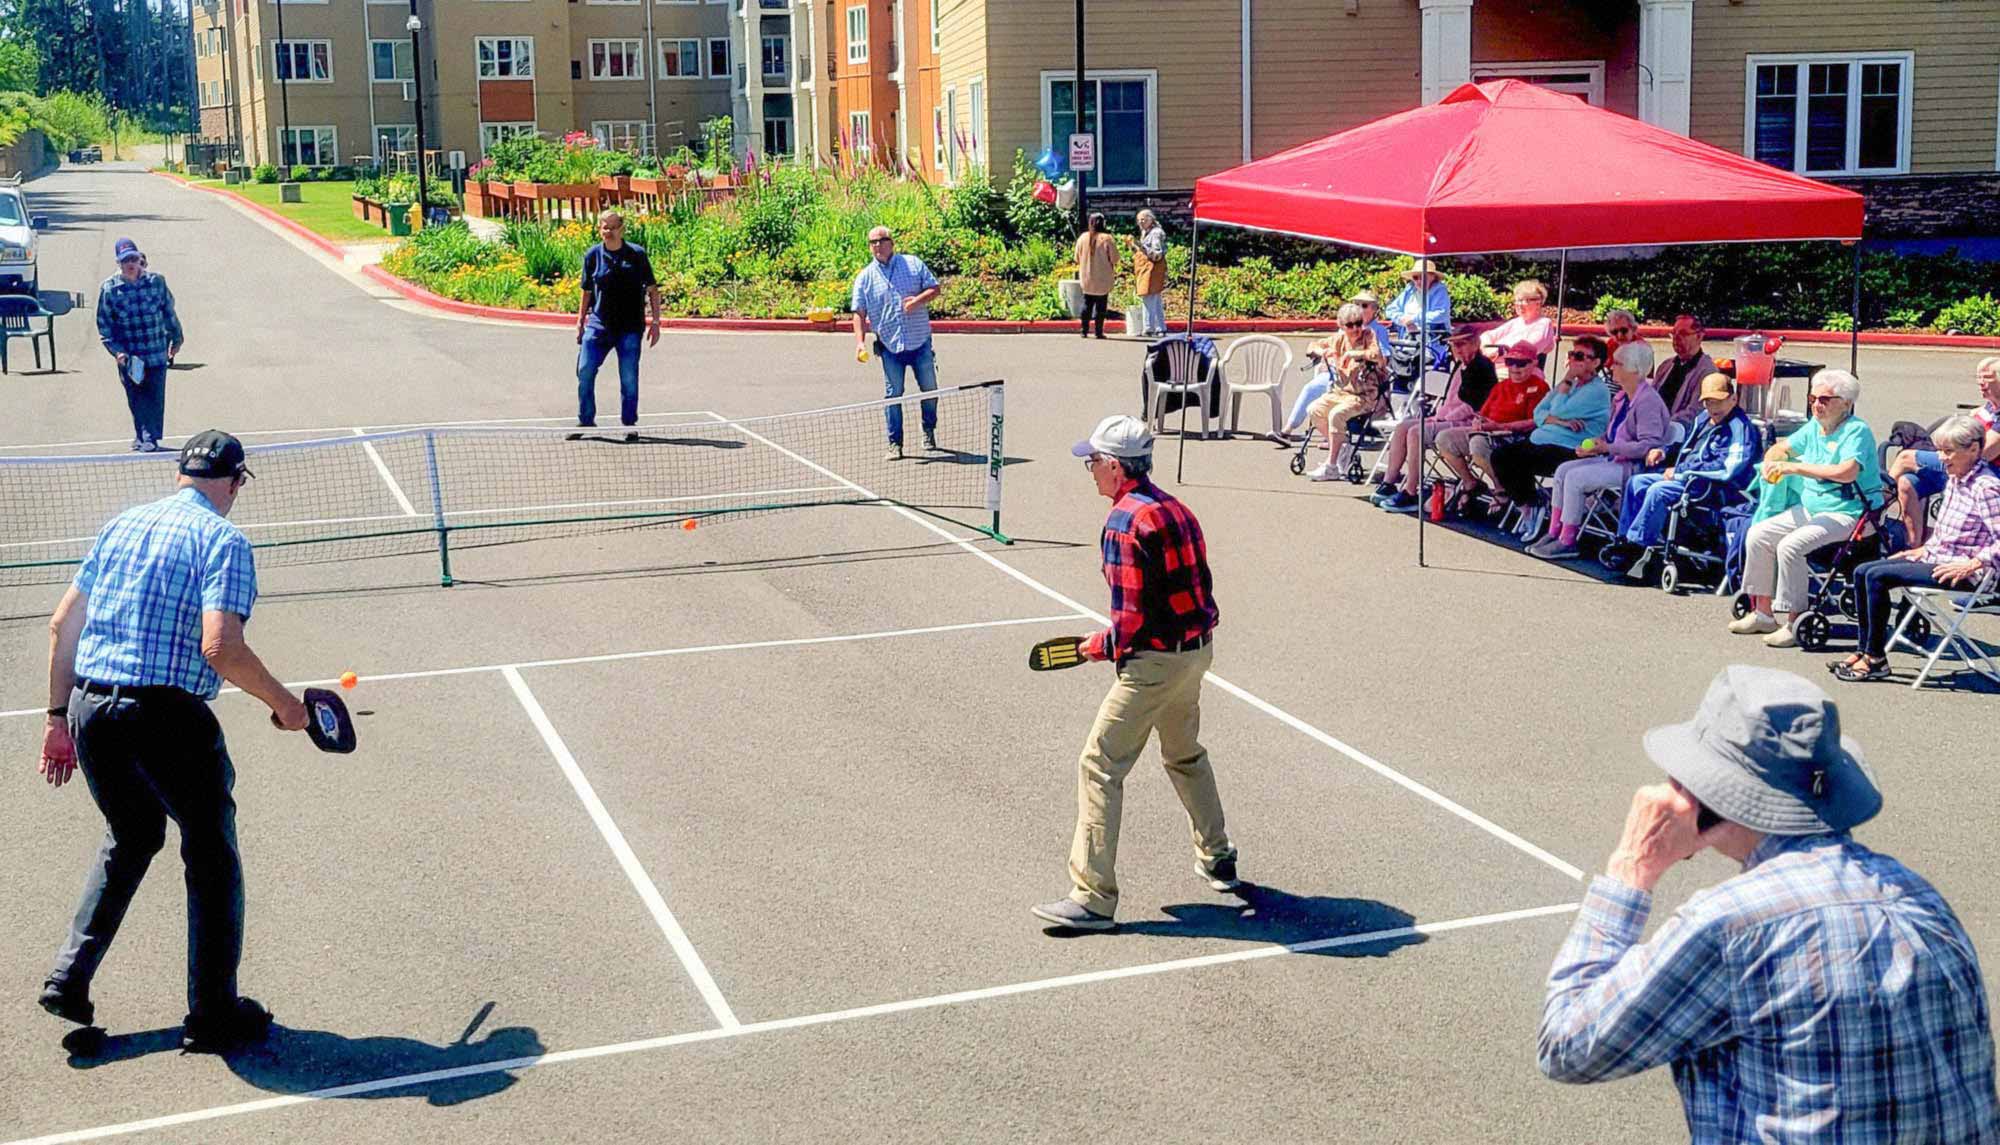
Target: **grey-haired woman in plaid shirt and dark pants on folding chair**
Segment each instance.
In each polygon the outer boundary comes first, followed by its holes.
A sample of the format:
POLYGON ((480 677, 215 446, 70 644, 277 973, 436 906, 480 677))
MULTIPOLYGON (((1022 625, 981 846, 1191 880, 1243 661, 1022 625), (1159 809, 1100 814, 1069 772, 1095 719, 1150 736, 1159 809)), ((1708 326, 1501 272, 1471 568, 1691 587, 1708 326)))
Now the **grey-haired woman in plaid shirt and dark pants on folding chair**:
POLYGON ((1842 681, 1888 677, 1890 589, 1970 589, 2000 568, 2000 472, 1982 450, 1992 430, 1972 416, 1946 418, 1932 434, 1944 460, 1944 508, 1930 540, 1854 568, 1860 651, 1828 665, 1842 681))

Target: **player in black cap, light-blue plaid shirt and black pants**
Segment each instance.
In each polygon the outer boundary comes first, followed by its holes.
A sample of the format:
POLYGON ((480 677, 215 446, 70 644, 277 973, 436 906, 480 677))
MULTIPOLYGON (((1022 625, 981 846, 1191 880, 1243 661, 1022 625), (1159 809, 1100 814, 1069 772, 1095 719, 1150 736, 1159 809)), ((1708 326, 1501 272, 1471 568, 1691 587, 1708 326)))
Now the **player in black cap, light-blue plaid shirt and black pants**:
POLYGON ((90 981, 172 819, 188 883, 182 1043, 194 1051, 230 1049, 270 1027, 270 1011, 236 993, 236 767, 208 701, 230 681, 264 701, 280 729, 306 727, 306 705, 244 643, 256 562, 226 518, 250 476, 234 436, 188 438, 178 490, 98 532, 50 621, 40 771, 62 787, 82 767, 106 831, 42 1009, 92 1023, 90 981))

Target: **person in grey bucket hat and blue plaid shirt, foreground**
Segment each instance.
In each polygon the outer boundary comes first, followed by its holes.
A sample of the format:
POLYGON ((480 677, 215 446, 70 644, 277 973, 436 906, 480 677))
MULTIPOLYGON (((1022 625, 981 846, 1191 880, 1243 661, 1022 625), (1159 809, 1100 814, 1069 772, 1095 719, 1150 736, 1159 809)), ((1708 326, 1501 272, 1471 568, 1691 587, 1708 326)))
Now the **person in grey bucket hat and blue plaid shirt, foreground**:
POLYGON ((1696 1145, 2000 1141, 1972 939, 1930 883, 1850 835, 1882 793, 1826 693, 1724 669, 1646 755, 1670 785, 1632 799, 1556 955, 1542 1073, 1670 1065, 1696 1145), (1742 875, 1640 943, 1654 885, 1708 847, 1742 875))

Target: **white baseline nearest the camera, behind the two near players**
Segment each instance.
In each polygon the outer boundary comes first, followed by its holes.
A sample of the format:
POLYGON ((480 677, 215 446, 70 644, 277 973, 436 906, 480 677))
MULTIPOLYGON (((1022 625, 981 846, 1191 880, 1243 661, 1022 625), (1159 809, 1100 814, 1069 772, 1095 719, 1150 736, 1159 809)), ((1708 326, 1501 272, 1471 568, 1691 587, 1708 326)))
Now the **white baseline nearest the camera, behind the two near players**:
POLYGON ((1172 959, 1166 963, 1142 963, 1136 967, 1118 967, 1110 971, 1090 971, 1082 975, 1062 975, 1054 979, 1034 979, 1026 983, 1008 983, 1000 987, 982 987, 970 991, 954 991, 946 995, 930 995, 920 999, 904 999, 892 1003, 864 1005, 852 1009, 836 1009, 822 1013, 808 1013, 800 1017, 782 1017, 772 1021, 752 1021, 746 1025, 730 1029, 698 1029, 690 1033, 676 1033, 668 1037, 648 1037, 640 1041, 618 1041, 612 1045, 592 1045, 584 1049, 560 1049, 556 1053, 544 1053, 540 1057, 512 1057, 506 1061, 482 1061, 478 1065, 460 1065, 454 1069, 434 1069, 430 1073, 406 1073, 402 1077, 382 1077, 376 1081, 358 1081, 354 1085, 336 1085, 328 1089, 314 1089, 312 1093, 290 1093, 284 1097, 266 1097, 262 1101, 242 1101, 238 1105, 214 1105, 210 1109, 192 1109, 188 1113, 170 1113, 166 1117, 148 1117, 144 1121, 124 1121, 120 1125, 102 1125, 96 1129, 74 1129, 68 1133, 50 1133, 46 1137, 26 1137, 20 1141, 8 1141, 4 1145, 68 1145, 74 1141, 102 1141, 106 1137, 120 1137, 126 1133, 146 1133, 152 1129, 174 1129, 178 1125, 194 1125, 200 1121, 216 1121, 222 1117, 242 1117, 246 1113, 264 1113, 270 1109, 284 1109, 290 1105, 308 1105, 314 1101, 332 1101, 340 1097, 364 1097, 370 1093, 382 1093, 388 1089, 410 1089, 420 1085, 434 1085, 440 1081, 456 1081, 460 1077, 480 1077, 488 1073, 514 1073, 520 1069, 536 1069, 542 1065, 562 1065, 568 1061, 590 1061, 598 1057, 622 1057, 628 1053, 648 1053, 656 1049, 670 1049, 678 1045, 696 1045, 704 1041, 726 1041, 738 1037, 750 1037, 756 1033, 778 1033, 788 1029, 808 1029, 816 1025, 832 1025, 842 1021, 854 1021, 864 1017, 886 1017, 898 1013, 942 1009, 950 1005, 978 1003, 990 999, 1004 999, 1016 995, 1032 995, 1054 989, 1082 987, 1090 983, 1108 983, 1118 979, 1136 979, 1150 975, 1164 975, 1172 971, 1190 971, 1202 967, 1220 967, 1230 963, 1248 963, 1260 959, 1278 959, 1286 955, 1310 955, 1316 951, 1336 951, 1342 947, 1368 947, 1374 943, 1392 943, 1398 939, 1432 937, 1446 935, 1452 931, 1468 931, 1472 927, 1492 927, 1498 923, 1520 923, 1528 919, 1546 919, 1550 915, 1570 915, 1576 911, 1576 903, 1558 903, 1554 907, 1530 907, 1526 911, 1504 911, 1498 915, 1478 915, 1472 919, 1448 919, 1442 923, 1418 923, 1414 927, 1396 927, 1394 931, 1368 931, 1366 935, 1342 935, 1338 939, 1312 939, 1306 943, 1288 943, 1282 947, 1250 947, 1242 951, 1228 951, 1222 955, 1200 955, 1190 959, 1172 959))

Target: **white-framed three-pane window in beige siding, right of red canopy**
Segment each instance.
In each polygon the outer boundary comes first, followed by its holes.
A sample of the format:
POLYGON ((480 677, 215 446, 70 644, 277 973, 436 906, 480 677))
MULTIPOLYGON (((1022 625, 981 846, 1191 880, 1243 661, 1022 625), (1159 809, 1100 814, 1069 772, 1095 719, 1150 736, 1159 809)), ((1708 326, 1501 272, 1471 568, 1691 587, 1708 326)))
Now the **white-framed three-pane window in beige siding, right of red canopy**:
POLYGON ((1908 52, 1750 56, 1744 154, 1804 174, 1910 170, 1908 52))

